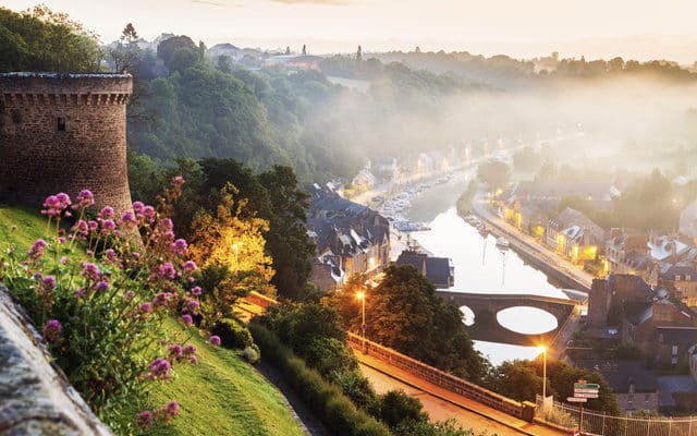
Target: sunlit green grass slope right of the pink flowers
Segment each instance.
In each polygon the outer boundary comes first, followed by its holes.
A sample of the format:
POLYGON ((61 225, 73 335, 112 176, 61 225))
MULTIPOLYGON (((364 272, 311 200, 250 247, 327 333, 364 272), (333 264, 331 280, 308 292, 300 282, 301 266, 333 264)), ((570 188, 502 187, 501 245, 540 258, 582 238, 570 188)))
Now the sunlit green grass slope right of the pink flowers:
POLYGON ((198 335, 187 343, 196 346, 198 364, 174 366, 174 379, 159 385, 152 395, 155 404, 176 400, 180 415, 148 434, 304 434, 279 390, 240 359, 239 351, 211 348, 198 335))

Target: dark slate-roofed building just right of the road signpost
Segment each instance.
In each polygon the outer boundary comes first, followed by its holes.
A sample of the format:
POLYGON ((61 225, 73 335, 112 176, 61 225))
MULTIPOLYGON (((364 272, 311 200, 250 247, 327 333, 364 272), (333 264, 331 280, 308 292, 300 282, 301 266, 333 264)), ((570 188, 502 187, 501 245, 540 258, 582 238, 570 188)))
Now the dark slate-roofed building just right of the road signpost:
POLYGON ((577 361, 579 367, 597 371, 612 388, 625 414, 658 412, 659 387, 656 376, 640 361, 577 361))

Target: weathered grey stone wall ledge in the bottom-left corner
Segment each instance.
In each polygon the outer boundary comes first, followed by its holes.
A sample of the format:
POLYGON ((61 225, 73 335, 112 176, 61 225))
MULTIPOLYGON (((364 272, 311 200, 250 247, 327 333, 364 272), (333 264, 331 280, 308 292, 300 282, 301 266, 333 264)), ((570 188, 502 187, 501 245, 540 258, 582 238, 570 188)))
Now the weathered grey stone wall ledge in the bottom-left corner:
POLYGON ((0 435, 111 435, 49 362, 39 334, 0 283, 0 435))

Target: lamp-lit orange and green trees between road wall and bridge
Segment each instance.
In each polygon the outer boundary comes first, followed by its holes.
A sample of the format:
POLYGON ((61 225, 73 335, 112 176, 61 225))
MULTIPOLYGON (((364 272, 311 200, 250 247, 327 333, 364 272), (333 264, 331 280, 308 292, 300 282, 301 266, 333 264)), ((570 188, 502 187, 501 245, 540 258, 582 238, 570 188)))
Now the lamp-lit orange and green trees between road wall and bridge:
MULTIPOLYGON (((350 281, 329 304, 345 328, 360 326, 360 302, 350 281)), ((486 375, 488 362, 474 349, 460 308, 445 304, 413 266, 391 265, 376 288, 365 288, 366 334, 370 340, 468 379, 486 375)))

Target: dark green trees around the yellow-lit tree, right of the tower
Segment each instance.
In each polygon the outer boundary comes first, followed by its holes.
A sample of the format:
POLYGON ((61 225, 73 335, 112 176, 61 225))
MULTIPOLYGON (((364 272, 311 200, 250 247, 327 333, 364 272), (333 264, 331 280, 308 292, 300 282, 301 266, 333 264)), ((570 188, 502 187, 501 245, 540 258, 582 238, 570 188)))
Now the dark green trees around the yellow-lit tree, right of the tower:
MULTIPOLYGON (((304 300, 311 293, 306 284, 311 272, 310 258, 315 254, 315 246, 304 226, 307 195, 298 187, 290 167, 274 166, 266 172, 254 174, 249 167, 234 159, 207 158, 198 162, 179 159, 176 168, 152 173, 149 158, 135 154, 129 157, 129 173, 136 178, 133 183, 135 190, 146 198, 152 196, 151 180, 163 180, 167 174, 175 173, 186 178, 187 183, 171 215, 188 239, 194 238, 194 232, 206 232, 200 230, 200 222, 194 222, 197 214, 200 218, 221 213, 224 196, 234 194, 230 198, 232 203, 225 203, 230 206, 231 215, 248 225, 260 222, 259 219, 268 221, 268 226, 260 228, 260 231, 265 240, 264 250, 270 256, 272 270, 276 271, 270 282, 279 294, 304 300), (235 187, 232 194, 223 192, 231 190, 225 187, 228 184, 235 187)), ((221 232, 234 233, 224 229, 221 232)), ((230 241, 227 246, 235 242, 230 241)), ((245 242, 241 242, 237 256, 243 266, 245 242)), ((229 254, 229 259, 234 259, 234 253, 229 254)))

